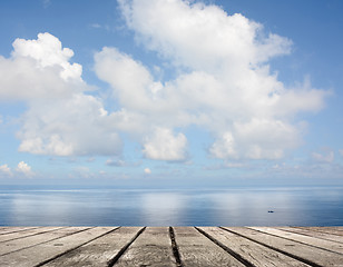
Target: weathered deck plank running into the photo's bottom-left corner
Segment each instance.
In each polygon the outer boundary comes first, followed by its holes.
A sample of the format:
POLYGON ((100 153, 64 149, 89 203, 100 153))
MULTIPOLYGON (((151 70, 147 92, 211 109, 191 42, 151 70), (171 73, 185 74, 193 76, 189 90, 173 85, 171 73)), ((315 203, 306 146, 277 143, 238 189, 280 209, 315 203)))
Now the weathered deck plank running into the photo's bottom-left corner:
POLYGON ((31 248, 14 251, 0 257, 0 266, 9 267, 32 267, 41 266, 71 249, 89 243, 106 233, 112 230, 114 227, 95 227, 74 235, 61 237, 45 244, 37 245, 31 248))

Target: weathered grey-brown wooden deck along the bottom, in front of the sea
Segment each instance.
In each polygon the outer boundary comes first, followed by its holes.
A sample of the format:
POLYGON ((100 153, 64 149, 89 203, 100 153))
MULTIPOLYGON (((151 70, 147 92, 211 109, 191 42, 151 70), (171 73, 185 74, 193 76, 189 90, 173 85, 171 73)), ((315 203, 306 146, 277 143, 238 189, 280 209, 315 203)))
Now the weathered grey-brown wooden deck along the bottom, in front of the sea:
POLYGON ((0 227, 0 266, 343 266, 343 227, 0 227))

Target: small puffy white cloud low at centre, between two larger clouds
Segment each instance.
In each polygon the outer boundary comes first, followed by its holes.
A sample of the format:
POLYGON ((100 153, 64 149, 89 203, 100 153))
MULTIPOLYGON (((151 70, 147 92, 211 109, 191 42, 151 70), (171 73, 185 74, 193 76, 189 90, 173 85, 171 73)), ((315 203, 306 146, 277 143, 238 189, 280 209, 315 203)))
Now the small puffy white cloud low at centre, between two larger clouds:
POLYGON ((157 128, 150 138, 144 144, 143 152, 147 158, 160 160, 186 159, 185 148, 187 139, 185 135, 174 136, 171 130, 157 128))

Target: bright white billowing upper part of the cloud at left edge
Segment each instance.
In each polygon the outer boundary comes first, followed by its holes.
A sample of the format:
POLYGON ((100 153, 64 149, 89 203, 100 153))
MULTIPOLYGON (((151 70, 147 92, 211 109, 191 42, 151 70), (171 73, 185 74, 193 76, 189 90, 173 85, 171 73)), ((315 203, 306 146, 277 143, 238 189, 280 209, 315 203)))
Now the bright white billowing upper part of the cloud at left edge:
POLYGON ((37 40, 16 39, 11 58, 0 56, 0 99, 56 99, 91 90, 81 79, 82 67, 69 62, 72 56, 47 32, 37 40))

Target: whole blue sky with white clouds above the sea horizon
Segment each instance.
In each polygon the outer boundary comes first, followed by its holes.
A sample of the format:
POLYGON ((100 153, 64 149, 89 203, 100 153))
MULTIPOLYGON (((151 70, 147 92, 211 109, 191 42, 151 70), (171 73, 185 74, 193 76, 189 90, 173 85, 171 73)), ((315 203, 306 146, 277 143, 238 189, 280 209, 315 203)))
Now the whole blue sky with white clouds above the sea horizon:
POLYGON ((0 2, 0 185, 343 185, 343 2, 0 2))

